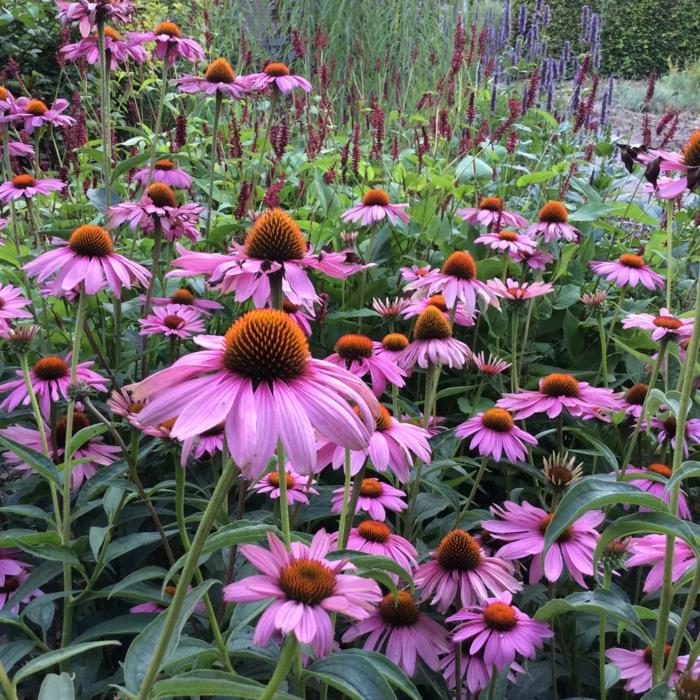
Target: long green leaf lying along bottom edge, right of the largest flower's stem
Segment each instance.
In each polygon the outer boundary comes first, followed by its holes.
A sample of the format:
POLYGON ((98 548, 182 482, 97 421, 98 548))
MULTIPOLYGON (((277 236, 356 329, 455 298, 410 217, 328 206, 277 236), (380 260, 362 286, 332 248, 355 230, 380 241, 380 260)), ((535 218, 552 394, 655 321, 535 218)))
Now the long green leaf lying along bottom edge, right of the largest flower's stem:
MULTIPOLYGON (((224 671, 188 671, 173 678, 158 681, 149 697, 172 698, 176 696, 199 697, 218 695, 225 698, 259 698, 264 685, 241 676, 232 678, 224 671)), ((296 695, 278 691, 274 695, 279 700, 292 700, 296 695)))

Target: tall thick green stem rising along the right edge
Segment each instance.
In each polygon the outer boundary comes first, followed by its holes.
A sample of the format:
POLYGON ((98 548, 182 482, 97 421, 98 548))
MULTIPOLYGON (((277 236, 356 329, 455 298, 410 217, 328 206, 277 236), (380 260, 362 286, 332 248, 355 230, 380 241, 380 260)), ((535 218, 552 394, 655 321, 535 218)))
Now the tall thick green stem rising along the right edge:
MULTIPOLYGON (((668 216, 668 215, 667 215, 668 216)), ((670 241, 669 241, 670 245, 670 241)), ((669 250, 670 252, 670 250, 669 250)), ((670 275, 669 275, 670 278, 670 275)), ((670 283, 670 279, 667 280, 670 283)), ((678 401, 678 412, 676 414, 676 446, 673 450, 672 471, 678 473, 683 461, 685 446, 685 427, 688 420, 688 409, 690 408, 691 394, 695 385, 695 363, 700 349, 700 284, 695 284, 695 315, 693 316, 693 335, 690 338, 685 360, 682 366, 683 383, 681 384, 681 396, 678 401)), ((661 355, 661 352, 659 352, 661 355)), ((657 364, 659 360, 657 359, 657 364)), ((652 386, 649 386, 651 390, 652 386)), ((648 395, 648 394, 647 394, 648 395)), ((671 515, 678 515, 678 500, 680 498, 681 482, 677 481, 671 489, 669 510, 671 515)), ((668 629, 668 618, 673 602, 673 554, 675 550, 676 538, 672 535, 666 537, 666 551, 664 554, 664 578, 661 589, 661 599, 659 605, 659 622, 654 640, 654 651, 652 656, 652 669, 654 683, 662 677, 664 669, 664 645, 666 643, 666 632, 668 629)), ((696 591, 697 593, 697 591, 696 591)), ((693 601, 694 603, 694 601, 693 601)), ((678 628, 682 633, 684 628, 678 628)), ((670 658, 669 658, 670 662, 670 658)), ((669 665, 668 668, 673 668, 669 665)))

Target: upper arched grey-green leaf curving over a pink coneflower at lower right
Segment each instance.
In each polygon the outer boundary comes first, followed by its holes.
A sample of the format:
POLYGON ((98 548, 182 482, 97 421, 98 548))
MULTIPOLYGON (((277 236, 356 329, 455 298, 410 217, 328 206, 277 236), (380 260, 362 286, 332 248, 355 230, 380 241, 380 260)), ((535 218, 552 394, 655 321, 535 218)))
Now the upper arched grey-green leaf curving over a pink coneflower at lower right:
POLYGON ((613 476, 588 476, 574 484, 562 498, 544 535, 545 552, 559 536, 584 513, 616 503, 644 506, 668 512, 666 504, 636 486, 615 481, 613 476))

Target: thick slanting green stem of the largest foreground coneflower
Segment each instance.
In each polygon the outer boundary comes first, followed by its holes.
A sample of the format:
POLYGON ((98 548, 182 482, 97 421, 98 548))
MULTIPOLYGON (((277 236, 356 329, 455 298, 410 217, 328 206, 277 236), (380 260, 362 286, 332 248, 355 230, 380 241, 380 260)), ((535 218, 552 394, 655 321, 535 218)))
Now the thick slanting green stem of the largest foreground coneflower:
POLYGON ((175 590, 175 595, 168 606, 168 612, 165 617, 165 622, 163 623, 163 631, 158 639, 158 645, 151 657, 151 661, 144 675, 143 681, 141 683, 141 688, 139 689, 136 700, 146 700, 151 693, 151 688, 155 682, 158 673, 160 671, 160 666, 163 663, 163 658, 165 657, 165 652, 168 648, 170 638, 177 624, 178 618, 180 617, 180 612, 182 610, 182 605, 185 601, 187 595, 187 587, 189 586, 194 571, 197 568, 197 562, 204 549, 204 543, 209 535, 209 531, 214 524, 216 515, 221 509, 224 501, 226 500, 226 495, 228 494, 231 485, 236 478, 236 466, 232 460, 227 460, 224 466, 223 473, 214 493, 209 500, 209 504, 202 515, 202 519, 199 522, 199 527, 195 533, 194 540, 192 540, 192 545, 190 551, 187 553, 187 559, 185 559, 185 564, 182 568, 182 573, 180 574, 180 579, 178 581, 177 588, 175 590))

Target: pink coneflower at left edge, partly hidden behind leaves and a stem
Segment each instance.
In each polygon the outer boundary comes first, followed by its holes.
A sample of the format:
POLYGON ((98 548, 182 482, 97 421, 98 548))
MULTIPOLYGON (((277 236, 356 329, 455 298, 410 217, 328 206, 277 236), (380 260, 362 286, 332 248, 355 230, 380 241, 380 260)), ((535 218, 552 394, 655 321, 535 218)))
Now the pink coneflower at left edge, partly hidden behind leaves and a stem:
MULTIPOLYGON (((73 434, 83 428, 87 428, 90 421, 84 413, 73 411, 73 434)), ((54 456, 61 459, 65 452, 66 444, 66 418, 59 418, 53 430, 45 425, 47 435, 51 435, 52 450, 54 456)), ((33 428, 25 428, 22 425, 13 425, 0 430, 0 435, 4 435, 10 440, 28 447, 35 452, 43 451, 41 433, 33 428)), ((73 452, 73 464, 71 466, 71 487, 80 488, 80 485, 94 476, 98 467, 106 467, 117 461, 120 450, 114 445, 106 445, 102 441, 102 436, 97 435, 84 442, 75 452, 73 452)), ((3 458, 8 464, 22 471, 32 471, 31 465, 26 464, 24 459, 12 451, 3 453, 3 458)))

